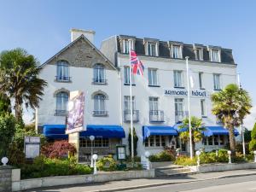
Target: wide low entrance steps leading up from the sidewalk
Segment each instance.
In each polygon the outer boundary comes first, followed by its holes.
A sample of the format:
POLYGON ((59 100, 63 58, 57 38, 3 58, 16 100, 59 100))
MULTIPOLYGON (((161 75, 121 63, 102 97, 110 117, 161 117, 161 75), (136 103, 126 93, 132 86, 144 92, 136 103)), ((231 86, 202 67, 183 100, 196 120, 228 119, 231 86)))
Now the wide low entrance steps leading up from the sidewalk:
POLYGON ((185 176, 192 174, 188 167, 183 166, 166 166, 158 167, 154 169, 155 177, 173 177, 173 176, 185 176))

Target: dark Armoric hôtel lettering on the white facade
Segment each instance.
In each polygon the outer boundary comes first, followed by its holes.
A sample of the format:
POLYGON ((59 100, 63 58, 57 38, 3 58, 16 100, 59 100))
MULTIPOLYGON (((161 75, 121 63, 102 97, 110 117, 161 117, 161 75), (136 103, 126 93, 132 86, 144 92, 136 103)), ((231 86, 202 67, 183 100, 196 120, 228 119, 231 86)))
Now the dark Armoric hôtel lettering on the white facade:
MULTIPOLYGON (((164 89, 165 96, 188 96, 188 90, 181 89, 164 89)), ((207 90, 190 90, 190 96, 207 97, 207 90)))

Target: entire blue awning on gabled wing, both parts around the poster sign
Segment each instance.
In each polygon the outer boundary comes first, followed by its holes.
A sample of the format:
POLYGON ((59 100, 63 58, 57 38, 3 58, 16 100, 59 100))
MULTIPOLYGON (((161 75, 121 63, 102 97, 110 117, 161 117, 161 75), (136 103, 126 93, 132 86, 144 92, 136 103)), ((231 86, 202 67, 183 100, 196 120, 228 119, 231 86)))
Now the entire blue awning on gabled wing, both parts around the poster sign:
MULTIPOLYGON (((44 125, 44 136, 50 139, 67 139, 66 125, 44 125)), ((119 125, 87 125, 86 131, 80 132, 80 137, 124 138, 125 131, 119 125)))

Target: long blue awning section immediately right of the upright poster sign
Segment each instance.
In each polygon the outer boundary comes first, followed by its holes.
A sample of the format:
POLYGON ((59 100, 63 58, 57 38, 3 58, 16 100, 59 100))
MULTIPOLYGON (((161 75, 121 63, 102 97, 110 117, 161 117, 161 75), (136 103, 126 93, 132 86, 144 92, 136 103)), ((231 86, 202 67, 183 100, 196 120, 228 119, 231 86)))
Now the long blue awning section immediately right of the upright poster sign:
POLYGON ((87 125, 86 131, 80 132, 80 137, 124 138, 125 131, 120 125, 87 125))

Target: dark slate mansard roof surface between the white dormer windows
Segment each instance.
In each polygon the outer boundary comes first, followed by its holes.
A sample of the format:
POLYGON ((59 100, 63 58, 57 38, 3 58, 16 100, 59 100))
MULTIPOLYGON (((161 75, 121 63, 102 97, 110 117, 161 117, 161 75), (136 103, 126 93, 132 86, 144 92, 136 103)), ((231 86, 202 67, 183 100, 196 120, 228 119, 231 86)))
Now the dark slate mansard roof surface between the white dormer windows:
MULTIPOLYGON (((124 36, 124 35, 117 36, 117 38, 118 38, 117 48, 118 48, 119 53, 121 53, 120 44, 119 44, 120 37, 135 38, 133 36, 124 36)), ((135 38, 135 39, 136 39, 135 49, 136 49, 137 55, 145 55, 143 38, 135 38)), ((183 44, 182 42, 177 42, 177 43, 183 44)), ((200 45, 203 48, 203 61, 210 61, 209 51, 207 49, 207 46, 202 45, 202 44, 195 44, 195 45, 200 45)), ((194 46, 193 44, 183 44, 183 58, 185 58, 186 56, 189 56, 189 60, 195 60, 195 52, 194 52, 193 46, 194 46)), ((220 47, 218 47, 218 48, 220 48, 220 47)), ((234 61, 234 58, 232 55, 232 50, 224 49, 224 48, 220 48, 220 49, 221 49, 221 62, 227 63, 227 64, 235 64, 235 61, 234 61)), ((168 45, 167 41, 159 41, 159 57, 171 58, 170 49, 169 49, 169 45, 168 45)))

